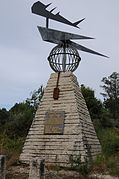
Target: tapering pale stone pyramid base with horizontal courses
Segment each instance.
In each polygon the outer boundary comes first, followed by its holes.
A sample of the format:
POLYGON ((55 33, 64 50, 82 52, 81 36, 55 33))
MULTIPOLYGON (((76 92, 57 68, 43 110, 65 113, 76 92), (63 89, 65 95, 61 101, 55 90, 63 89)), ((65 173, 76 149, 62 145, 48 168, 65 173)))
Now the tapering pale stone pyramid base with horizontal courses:
POLYGON ((47 164, 68 166, 71 157, 92 159, 101 146, 91 121, 77 78, 61 72, 59 99, 53 99, 58 74, 50 76, 42 102, 36 112, 20 160, 45 159, 47 164))

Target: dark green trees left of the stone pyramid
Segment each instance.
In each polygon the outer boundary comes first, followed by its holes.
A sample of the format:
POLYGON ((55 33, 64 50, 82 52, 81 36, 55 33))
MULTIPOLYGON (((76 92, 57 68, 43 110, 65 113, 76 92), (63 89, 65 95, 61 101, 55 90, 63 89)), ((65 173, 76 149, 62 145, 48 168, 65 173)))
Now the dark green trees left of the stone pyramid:
POLYGON ((0 125, 2 131, 10 138, 26 136, 42 96, 41 86, 25 102, 16 103, 9 111, 0 110, 0 124, 4 124, 4 127, 0 125))

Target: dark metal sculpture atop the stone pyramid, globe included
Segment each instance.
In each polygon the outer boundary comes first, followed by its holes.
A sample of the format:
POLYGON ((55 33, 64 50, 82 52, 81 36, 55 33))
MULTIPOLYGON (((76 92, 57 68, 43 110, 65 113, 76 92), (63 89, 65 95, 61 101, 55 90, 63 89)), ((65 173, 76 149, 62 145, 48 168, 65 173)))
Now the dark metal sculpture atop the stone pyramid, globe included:
MULTIPOLYGON (((50 3, 51 4, 51 3, 50 3)), ((32 12, 34 14, 43 16, 46 18, 46 27, 40 27, 38 26, 38 30, 42 36, 42 39, 44 41, 58 44, 53 50, 51 51, 48 60, 51 68, 55 72, 60 71, 75 71, 79 65, 79 62, 81 60, 78 51, 81 50, 83 52, 88 52, 95 55, 100 55, 102 57, 107 57, 101 53, 98 53, 94 50, 91 50, 87 47, 84 47, 80 44, 77 44, 72 39, 93 39, 91 37, 86 37, 82 35, 67 33, 63 31, 58 31, 54 29, 49 29, 49 19, 76 27, 78 27, 78 24, 81 23, 85 18, 77 21, 77 22, 70 22, 66 18, 60 15, 58 12, 57 14, 53 14, 53 8, 51 11, 47 10, 47 7, 50 6, 50 4, 44 5, 42 2, 38 1, 33 4, 32 6, 32 12)), ((108 58, 108 57, 107 57, 108 58)))

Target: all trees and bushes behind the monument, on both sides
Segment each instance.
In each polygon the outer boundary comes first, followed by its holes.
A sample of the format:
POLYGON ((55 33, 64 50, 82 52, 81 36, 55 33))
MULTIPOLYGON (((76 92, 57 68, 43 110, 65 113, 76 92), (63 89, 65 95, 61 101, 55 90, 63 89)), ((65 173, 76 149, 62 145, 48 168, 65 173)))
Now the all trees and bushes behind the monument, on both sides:
MULTIPOLYGON (((119 175, 119 74, 114 72, 104 77, 102 82, 103 103, 95 97, 90 87, 81 85, 81 91, 102 145, 98 166, 100 170, 107 169, 119 175), (117 161, 118 165, 113 161, 117 161)), ((42 95, 41 86, 32 93, 31 98, 15 104, 9 111, 0 109, 0 153, 7 155, 8 165, 17 162, 42 95)))

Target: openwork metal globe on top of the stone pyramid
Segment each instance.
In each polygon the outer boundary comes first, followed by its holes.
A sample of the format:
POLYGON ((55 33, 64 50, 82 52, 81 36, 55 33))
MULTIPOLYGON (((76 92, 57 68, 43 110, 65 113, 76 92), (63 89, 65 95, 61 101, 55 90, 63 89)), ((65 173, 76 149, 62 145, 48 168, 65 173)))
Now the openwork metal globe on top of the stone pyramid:
POLYGON ((76 48, 68 43, 61 43, 52 49, 48 61, 55 72, 74 72, 79 66, 81 58, 76 48))

